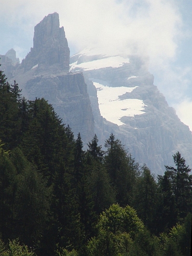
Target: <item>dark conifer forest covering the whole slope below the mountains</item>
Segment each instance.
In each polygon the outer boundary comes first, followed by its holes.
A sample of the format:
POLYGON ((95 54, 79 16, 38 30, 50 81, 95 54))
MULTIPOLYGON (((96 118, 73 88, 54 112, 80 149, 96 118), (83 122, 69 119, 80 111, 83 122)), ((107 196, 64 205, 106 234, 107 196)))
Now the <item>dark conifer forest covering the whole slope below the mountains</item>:
POLYGON ((83 150, 45 99, 0 71, 1 256, 188 256, 192 176, 179 152, 157 179, 113 134, 83 150))

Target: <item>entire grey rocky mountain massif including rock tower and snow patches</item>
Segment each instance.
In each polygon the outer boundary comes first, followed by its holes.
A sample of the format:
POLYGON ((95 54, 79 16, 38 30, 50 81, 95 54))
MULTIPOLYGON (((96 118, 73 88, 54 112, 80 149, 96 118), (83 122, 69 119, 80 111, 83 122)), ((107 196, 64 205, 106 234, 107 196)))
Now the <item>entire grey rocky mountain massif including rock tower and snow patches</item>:
POLYGON ((155 174, 173 165, 177 151, 192 166, 191 132, 154 85, 147 57, 92 47, 70 58, 57 13, 35 26, 33 48, 21 64, 0 57, 9 82, 16 79, 29 100, 48 100, 84 145, 94 133, 103 145, 113 132, 155 174))

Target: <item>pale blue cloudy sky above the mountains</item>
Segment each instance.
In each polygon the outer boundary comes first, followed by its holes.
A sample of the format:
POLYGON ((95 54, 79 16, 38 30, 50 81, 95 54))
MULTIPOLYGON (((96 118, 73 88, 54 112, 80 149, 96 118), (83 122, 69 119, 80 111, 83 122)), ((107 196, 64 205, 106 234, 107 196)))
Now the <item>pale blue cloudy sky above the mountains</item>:
POLYGON ((0 0, 0 54, 13 48, 21 61, 55 11, 71 55, 91 44, 147 54, 154 84, 192 131, 191 0, 0 0))

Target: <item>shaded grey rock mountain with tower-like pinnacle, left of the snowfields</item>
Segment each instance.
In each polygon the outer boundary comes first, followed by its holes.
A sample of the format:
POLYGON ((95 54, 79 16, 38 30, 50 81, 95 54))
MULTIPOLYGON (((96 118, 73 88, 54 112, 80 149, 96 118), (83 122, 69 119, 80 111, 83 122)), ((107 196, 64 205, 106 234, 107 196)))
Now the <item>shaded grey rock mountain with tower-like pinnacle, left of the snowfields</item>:
POLYGON ((92 139, 94 119, 87 85, 82 73, 69 73, 70 49, 57 13, 35 26, 33 48, 21 64, 13 65, 6 58, 2 67, 8 81, 16 80, 26 99, 45 98, 75 137, 80 132, 85 143, 92 139))

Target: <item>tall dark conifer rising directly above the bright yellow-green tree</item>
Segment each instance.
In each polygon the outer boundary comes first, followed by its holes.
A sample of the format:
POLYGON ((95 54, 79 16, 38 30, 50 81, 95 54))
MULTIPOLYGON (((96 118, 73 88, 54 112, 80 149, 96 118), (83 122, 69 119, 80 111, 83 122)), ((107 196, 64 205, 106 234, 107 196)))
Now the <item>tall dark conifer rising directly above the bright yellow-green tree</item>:
POLYGON ((139 172, 139 165, 128 154, 121 141, 113 133, 105 141, 107 152, 104 165, 116 193, 116 200, 121 206, 130 204, 133 185, 139 172))

